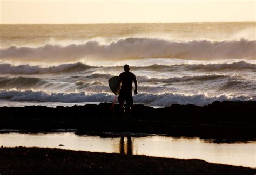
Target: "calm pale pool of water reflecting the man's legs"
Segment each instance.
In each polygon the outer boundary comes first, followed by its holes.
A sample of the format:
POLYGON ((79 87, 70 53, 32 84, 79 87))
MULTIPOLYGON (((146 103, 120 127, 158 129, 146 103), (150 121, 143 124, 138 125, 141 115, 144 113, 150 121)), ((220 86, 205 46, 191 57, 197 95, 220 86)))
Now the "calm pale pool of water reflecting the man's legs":
POLYGON ((49 134, 0 134, 0 146, 44 147, 91 152, 124 153, 179 159, 201 159, 211 163, 256 167, 256 141, 212 143, 199 138, 159 135, 100 137, 75 132, 49 134), (59 146, 63 144, 64 146, 59 146))

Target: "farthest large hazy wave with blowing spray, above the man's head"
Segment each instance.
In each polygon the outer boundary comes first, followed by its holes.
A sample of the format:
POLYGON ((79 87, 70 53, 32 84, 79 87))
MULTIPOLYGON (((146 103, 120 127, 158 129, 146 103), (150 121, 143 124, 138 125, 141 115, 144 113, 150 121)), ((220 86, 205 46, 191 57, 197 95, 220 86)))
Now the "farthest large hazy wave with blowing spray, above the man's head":
POLYGON ((26 61, 78 61, 79 59, 256 59, 256 41, 170 41, 159 38, 126 38, 102 45, 98 41, 68 46, 16 47, 0 49, 0 59, 26 61))

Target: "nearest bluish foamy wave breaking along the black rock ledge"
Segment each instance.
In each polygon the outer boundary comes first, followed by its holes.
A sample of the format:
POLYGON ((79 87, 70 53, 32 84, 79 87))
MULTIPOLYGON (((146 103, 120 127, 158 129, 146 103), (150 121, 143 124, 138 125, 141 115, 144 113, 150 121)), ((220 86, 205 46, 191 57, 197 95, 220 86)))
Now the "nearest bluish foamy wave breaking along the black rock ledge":
MULTIPOLYGON (((113 95, 109 93, 85 94, 85 93, 45 93, 27 91, 6 91, 0 90, 0 100, 10 101, 31 101, 31 102, 64 102, 64 103, 80 103, 80 102, 112 102, 113 95)), ((231 95, 223 94, 218 96, 206 96, 203 94, 138 94, 134 96, 134 102, 149 104, 151 106, 170 106, 171 104, 196 104, 203 106, 213 101, 224 100, 256 100, 256 97, 248 95, 231 95)))

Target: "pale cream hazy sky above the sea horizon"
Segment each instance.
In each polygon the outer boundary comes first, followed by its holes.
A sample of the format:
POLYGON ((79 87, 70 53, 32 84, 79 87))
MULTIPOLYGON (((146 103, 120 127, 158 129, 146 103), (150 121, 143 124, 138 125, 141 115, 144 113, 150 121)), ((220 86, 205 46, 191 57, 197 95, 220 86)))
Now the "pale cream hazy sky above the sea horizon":
POLYGON ((255 21, 256 0, 2 1, 0 23, 255 21))

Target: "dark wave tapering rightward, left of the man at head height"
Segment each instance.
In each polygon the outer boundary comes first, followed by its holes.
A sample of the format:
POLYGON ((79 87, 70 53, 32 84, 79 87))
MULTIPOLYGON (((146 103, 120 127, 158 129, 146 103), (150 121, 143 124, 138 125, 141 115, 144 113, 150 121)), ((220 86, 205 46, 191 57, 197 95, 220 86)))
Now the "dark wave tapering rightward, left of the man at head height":
POLYGON ((73 64, 62 64, 58 66, 40 67, 31 65, 0 64, 0 74, 48 74, 48 73, 69 73, 84 71, 93 68, 80 62, 73 64))

